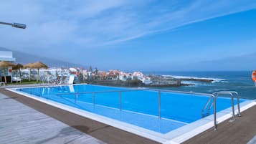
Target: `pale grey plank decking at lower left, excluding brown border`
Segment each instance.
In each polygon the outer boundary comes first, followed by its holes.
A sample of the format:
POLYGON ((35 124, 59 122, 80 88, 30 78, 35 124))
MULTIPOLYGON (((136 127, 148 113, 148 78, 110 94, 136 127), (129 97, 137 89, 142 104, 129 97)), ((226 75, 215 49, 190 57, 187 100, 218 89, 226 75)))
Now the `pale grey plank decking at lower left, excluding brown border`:
POLYGON ((61 123, 0 93, 0 143, 103 144, 90 135, 61 123))

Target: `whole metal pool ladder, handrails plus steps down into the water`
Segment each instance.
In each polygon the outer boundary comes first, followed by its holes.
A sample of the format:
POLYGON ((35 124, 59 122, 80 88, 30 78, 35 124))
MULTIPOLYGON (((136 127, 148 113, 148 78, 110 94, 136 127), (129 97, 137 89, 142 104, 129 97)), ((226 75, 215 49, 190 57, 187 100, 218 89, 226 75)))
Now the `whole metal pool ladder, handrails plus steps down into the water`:
POLYGON ((235 91, 220 91, 220 92, 214 92, 210 97, 209 100, 207 100, 207 103, 204 105, 204 108, 202 109, 202 117, 206 117, 209 115, 210 110, 212 107, 214 107, 214 130, 217 130, 217 120, 216 120, 216 100, 219 95, 230 95, 231 96, 231 101, 232 101, 232 117, 233 120, 235 120, 235 115, 234 115, 234 97, 237 97, 237 109, 238 109, 238 116, 241 117, 240 114, 240 100, 239 100, 239 95, 235 91), (207 109, 207 115, 204 114, 204 111, 207 109))

